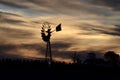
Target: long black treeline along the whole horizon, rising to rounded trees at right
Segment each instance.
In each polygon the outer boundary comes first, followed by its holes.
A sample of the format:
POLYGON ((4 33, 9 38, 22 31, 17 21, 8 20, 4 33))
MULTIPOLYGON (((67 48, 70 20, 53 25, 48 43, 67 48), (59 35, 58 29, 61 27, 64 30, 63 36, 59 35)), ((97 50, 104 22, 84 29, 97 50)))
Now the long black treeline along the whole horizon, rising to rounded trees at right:
POLYGON ((108 51, 103 58, 97 58, 96 53, 87 53, 87 58, 82 61, 80 54, 74 53, 70 55, 73 63, 65 63, 53 61, 49 64, 44 60, 29 60, 29 59, 0 59, 0 67, 6 68, 75 68, 81 66, 97 66, 97 67, 120 67, 120 56, 114 51, 108 51))

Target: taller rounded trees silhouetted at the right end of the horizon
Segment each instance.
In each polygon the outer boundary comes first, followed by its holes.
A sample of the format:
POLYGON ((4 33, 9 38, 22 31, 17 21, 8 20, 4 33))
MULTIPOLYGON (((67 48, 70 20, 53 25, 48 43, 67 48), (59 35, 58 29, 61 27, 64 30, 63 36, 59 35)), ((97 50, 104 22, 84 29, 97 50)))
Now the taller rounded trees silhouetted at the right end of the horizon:
POLYGON ((120 65, 120 56, 114 51, 106 52, 101 58, 97 58, 94 52, 88 52, 84 61, 81 59, 81 54, 74 53, 70 57, 74 64, 120 65))

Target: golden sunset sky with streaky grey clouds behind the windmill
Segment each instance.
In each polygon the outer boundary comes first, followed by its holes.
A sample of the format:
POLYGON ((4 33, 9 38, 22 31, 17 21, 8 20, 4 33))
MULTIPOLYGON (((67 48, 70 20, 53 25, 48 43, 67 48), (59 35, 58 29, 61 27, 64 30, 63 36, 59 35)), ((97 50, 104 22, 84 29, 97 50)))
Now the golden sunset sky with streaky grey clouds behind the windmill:
POLYGON ((55 60, 76 51, 120 54, 119 0, 0 0, 0 56, 44 58, 44 22, 62 24, 51 36, 55 60))

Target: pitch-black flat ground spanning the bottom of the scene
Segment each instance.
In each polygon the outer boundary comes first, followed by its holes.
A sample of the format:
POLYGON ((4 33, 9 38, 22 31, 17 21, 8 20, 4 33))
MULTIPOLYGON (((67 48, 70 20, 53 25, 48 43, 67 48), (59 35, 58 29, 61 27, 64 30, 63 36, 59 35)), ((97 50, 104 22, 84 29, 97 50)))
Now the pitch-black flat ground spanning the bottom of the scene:
POLYGON ((119 80, 120 67, 93 64, 48 65, 40 61, 0 61, 0 80, 119 80))

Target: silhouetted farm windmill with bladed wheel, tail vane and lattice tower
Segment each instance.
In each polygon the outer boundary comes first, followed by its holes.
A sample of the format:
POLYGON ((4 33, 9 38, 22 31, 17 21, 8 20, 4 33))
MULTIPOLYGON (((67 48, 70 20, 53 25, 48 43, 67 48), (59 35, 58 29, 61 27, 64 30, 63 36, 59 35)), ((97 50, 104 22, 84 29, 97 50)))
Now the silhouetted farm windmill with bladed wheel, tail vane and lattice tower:
POLYGON ((56 26, 55 30, 51 30, 51 25, 48 22, 45 22, 42 24, 42 29, 41 29, 41 37, 44 42, 46 42, 46 53, 45 53, 45 60, 48 63, 52 62, 52 52, 51 52, 51 43, 50 43, 50 38, 51 38, 51 33, 56 31, 61 31, 61 24, 56 26))

